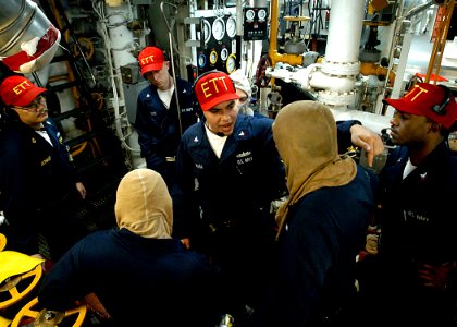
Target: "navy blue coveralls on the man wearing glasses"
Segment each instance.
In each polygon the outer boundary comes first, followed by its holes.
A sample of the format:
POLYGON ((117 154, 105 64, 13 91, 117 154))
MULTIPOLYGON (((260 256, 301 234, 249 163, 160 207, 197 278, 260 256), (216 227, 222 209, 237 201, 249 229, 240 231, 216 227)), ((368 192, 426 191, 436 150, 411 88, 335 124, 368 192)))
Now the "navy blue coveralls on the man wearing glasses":
POLYGON ((7 110, 10 119, 0 134, 0 207, 8 225, 0 231, 7 235, 8 250, 25 254, 39 253, 42 234, 55 261, 86 234, 75 217, 78 175, 51 119, 44 128, 52 146, 7 110))

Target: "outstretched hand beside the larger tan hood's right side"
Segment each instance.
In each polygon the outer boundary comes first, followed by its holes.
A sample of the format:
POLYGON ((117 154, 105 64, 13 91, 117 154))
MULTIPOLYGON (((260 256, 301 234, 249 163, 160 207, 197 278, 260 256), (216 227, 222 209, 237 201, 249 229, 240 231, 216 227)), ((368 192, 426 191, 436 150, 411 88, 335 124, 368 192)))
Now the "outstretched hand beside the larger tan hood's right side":
POLYGON ((384 150, 381 136, 362 125, 350 126, 350 141, 366 150, 367 162, 370 167, 373 166, 373 158, 384 150))

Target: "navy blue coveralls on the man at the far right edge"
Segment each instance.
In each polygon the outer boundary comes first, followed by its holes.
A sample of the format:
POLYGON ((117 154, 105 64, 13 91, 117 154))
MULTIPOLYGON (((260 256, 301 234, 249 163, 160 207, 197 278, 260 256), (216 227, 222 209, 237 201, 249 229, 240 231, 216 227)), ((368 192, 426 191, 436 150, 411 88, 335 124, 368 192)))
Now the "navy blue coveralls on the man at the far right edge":
POLYGON ((440 278, 445 289, 423 287, 419 269, 457 263, 457 156, 443 141, 403 179, 408 158, 408 148, 397 146, 380 173, 380 250, 360 263, 366 313, 375 310, 379 326, 393 319, 408 326, 455 326, 456 269, 440 278))

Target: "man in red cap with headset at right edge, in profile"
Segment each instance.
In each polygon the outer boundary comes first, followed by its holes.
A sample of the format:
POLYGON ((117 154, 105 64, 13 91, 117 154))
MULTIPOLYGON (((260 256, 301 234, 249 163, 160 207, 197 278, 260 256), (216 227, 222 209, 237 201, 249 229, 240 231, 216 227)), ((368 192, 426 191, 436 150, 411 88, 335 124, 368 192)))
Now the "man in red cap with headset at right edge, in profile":
POLYGON ((384 101, 395 108, 397 147, 380 173, 379 254, 360 263, 366 313, 376 312, 374 326, 456 326, 457 156, 447 136, 457 104, 450 89, 428 83, 384 101))

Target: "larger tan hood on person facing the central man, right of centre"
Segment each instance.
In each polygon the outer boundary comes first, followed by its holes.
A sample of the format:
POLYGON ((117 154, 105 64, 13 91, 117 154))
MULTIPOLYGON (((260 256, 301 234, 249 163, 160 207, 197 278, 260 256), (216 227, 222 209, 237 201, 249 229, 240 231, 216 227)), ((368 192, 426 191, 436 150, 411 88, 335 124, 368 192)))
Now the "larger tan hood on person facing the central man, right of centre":
POLYGON ((288 198, 276 213, 279 234, 288 207, 321 187, 348 184, 357 173, 353 158, 338 155, 336 123, 316 101, 285 106, 273 123, 273 138, 284 161, 288 198))

